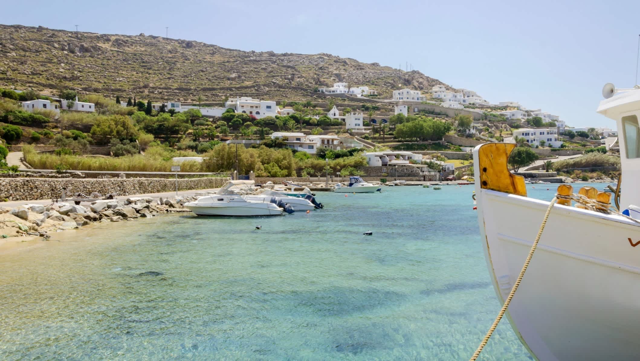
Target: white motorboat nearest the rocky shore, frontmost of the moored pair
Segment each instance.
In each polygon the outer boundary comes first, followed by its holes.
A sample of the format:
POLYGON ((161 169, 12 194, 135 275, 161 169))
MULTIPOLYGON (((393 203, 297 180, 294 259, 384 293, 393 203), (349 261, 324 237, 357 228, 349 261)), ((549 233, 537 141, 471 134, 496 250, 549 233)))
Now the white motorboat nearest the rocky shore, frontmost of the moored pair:
POLYGON ((247 200, 241 196, 213 195, 185 203, 196 215, 282 215, 285 207, 271 202, 271 199, 247 200))

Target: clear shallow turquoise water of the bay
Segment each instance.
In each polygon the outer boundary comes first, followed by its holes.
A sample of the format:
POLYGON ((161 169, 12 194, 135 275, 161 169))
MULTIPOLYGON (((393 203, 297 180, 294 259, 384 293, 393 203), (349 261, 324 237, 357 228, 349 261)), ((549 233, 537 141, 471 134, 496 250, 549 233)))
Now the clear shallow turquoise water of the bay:
MULTIPOLYGON (((308 215, 183 213, 0 255, 0 359, 468 359, 500 308, 473 189, 321 192, 308 215)), ((506 319, 481 359, 531 360, 506 319)))

